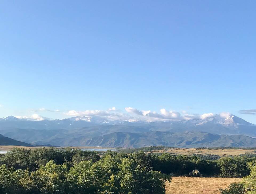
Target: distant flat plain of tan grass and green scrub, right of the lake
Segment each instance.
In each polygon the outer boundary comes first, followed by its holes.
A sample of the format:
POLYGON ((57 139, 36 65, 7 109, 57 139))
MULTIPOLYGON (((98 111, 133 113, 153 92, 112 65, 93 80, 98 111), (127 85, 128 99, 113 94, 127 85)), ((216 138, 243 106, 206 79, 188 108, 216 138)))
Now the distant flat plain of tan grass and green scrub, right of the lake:
POLYGON ((146 153, 170 153, 170 154, 202 154, 202 155, 218 155, 239 156, 240 154, 256 154, 254 148, 170 148, 164 146, 123 149, 122 152, 138 152, 139 150, 146 153))

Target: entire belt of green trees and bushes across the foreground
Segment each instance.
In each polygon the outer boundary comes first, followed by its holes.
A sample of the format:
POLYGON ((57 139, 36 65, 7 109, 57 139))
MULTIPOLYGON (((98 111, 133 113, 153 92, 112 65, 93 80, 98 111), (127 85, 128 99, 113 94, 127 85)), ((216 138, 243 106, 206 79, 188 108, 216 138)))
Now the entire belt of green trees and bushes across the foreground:
MULTIPOLYGON (((0 157, 0 193, 165 193, 170 176, 250 177, 255 161, 245 156, 207 160, 108 151, 100 157, 77 149, 14 148, 0 157)), ((222 192, 244 188, 241 184, 222 192)))

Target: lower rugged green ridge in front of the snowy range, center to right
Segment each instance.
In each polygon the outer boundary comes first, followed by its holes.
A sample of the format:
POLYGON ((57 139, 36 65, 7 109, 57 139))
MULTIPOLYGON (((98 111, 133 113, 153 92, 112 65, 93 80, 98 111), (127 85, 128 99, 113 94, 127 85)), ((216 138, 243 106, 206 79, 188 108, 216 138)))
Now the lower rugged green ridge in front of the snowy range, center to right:
POLYGON ((206 132, 189 131, 182 133, 117 132, 94 137, 85 141, 83 146, 139 148, 150 145, 169 147, 256 147, 256 139, 245 135, 217 135, 206 132))

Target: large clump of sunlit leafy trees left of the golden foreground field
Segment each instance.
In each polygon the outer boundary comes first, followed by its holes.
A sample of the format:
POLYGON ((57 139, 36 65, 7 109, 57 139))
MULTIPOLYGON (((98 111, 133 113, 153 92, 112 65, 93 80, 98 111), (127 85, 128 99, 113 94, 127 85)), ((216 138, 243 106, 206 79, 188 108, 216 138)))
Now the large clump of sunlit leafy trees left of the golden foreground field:
POLYGON ((170 176, 152 170, 144 157, 15 148, 0 158, 0 193, 165 193, 170 176))

